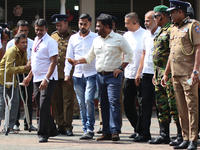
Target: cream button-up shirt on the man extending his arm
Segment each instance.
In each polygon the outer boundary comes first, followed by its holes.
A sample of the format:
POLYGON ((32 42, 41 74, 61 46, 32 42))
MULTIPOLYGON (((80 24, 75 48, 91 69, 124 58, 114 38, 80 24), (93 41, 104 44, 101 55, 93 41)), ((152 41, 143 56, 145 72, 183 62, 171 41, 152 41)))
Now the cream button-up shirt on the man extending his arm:
POLYGON ((132 62, 133 52, 126 39, 111 31, 105 38, 95 38, 90 52, 84 58, 90 63, 96 57, 96 70, 108 72, 121 66, 123 53, 126 55, 124 62, 132 62))

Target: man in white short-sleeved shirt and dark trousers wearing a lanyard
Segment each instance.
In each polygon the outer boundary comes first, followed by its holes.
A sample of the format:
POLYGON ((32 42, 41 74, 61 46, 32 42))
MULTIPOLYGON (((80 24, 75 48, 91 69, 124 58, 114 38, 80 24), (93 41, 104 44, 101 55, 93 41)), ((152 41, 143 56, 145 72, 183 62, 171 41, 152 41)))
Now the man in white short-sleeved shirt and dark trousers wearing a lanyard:
POLYGON ((47 142, 49 137, 57 136, 58 131, 50 113, 51 98, 58 80, 58 43, 48 33, 44 19, 35 22, 36 37, 33 42, 31 68, 23 83, 27 86, 33 76, 34 99, 39 112, 39 142, 47 142))

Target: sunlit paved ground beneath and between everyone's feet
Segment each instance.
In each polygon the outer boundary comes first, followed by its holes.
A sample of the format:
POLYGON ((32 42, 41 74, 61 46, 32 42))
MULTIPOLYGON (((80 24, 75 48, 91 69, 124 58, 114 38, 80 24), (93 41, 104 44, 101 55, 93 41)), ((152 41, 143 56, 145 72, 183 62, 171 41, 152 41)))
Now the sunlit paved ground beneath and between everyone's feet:
MULTIPOLYGON (((95 132, 99 129, 99 119, 98 112, 96 112, 96 123, 95 123, 95 132)), ((96 141, 97 137, 100 137, 99 134, 95 134, 93 140, 79 140, 79 137, 83 134, 81 119, 73 121, 73 132, 75 136, 67 137, 64 135, 59 135, 49 139, 47 143, 39 143, 36 132, 28 132, 23 130, 23 120, 21 122, 21 131, 19 134, 9 134, 5 136, 4 134, 0 135, 0 150, 172 150, 173 147, 168 146, 167 144, 161 145, 150 145, 147 143, 135 143, 132 142, 128 136, 133 132, 130 123, 123 116, 123 127, 122 134, 120 134, 120 141, 96 141)), ((3 122, 2 122, 3 123, 3 122)), ((36 126, 36 120, 33 120, 33 125, 36 126)), ((171 124, 170 127, 171 136, 176 134, 176 128, 174 124, 171 124)), ((159 128, 158 121, 153 112, 152 124, 151 124, 151 133, 152 138, 158 136, 159 128)), ((200 149, 200 142, 198 145, 200 149)))

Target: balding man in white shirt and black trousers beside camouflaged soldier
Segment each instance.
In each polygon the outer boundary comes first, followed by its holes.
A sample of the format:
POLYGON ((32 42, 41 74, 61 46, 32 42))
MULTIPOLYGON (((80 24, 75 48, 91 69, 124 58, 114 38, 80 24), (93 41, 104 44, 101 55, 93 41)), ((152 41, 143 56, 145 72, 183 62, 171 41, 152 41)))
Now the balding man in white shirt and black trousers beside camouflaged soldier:
POLYGON ((140 66, 138 68, 135 84, 140 84, 140 74, 142 72, 142 115, 140 116, 140 124, 138 125, 139 136, 137 136, 134 142, 147 142, 151 139, 150 125, 151 125, 151 114, 152 114, 152 103, 155 99, 155 87, 152 83, 154 75, 153 69, 153 48, 154 48, 154 37, 160 30, 154 21, 154 11, 149 11, 145 14, 144 25, 147 31, 144 33, 142 38, 142 57, 140 60, 140 66))

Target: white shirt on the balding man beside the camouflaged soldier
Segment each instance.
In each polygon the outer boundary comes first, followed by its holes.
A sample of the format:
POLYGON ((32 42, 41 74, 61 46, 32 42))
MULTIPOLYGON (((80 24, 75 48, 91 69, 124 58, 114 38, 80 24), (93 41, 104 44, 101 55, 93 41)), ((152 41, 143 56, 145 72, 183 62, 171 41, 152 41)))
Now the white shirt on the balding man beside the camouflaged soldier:
POLYGON ((158 27, 153 34, 151 34, 151 31, 147 30, 143 35, 142 49, 146 51, 144 57, 143 73, 154 74, 154 69, 153 69, 154 37, 157 35, 159 30, 160 27, 158 27))

